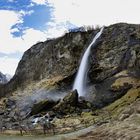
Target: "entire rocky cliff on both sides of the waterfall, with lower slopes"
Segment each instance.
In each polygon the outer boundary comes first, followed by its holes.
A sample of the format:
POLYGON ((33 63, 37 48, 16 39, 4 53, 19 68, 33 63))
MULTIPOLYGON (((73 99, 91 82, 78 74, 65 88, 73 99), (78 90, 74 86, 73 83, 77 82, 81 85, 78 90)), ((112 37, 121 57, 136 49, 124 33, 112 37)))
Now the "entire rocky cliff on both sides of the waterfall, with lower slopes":
MULTIPOLYGON (((98 31, 70 32, 35 44, 24 53, 12 80, 0 87, 0 96, 8 96, 23 115, 34 105, 40 106, 42 100, 43 106, 48 99, 59 102, 71 91, 81 57, 98 31)), ((90 108, 108 105, 114 112, 139 100, 140 25, 119 23, 105 27, 92 46, 88 63, 85 99, 90 108)))

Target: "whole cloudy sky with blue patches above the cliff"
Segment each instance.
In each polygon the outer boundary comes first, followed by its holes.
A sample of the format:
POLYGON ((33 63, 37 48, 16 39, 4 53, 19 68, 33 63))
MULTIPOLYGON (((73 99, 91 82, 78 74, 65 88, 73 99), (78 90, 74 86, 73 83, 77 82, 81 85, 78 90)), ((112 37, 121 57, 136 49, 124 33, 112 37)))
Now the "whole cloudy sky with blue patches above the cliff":
POLYGON ((33 44, 71 28, 140 24, 139 0, 0 0, 0 71, 14 75, 33 44))

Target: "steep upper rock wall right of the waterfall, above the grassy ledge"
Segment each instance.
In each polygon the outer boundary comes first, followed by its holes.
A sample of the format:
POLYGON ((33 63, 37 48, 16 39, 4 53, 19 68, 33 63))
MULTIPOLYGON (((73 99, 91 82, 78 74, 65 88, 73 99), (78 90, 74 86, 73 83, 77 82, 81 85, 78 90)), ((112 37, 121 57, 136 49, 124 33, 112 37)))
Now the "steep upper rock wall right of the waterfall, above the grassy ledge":
POLYGON ((139 28, 140 25, 125 23, 105 28, 100 42, 92 49, 92 81, 102 81, 124 69, 139 75, 139 28))

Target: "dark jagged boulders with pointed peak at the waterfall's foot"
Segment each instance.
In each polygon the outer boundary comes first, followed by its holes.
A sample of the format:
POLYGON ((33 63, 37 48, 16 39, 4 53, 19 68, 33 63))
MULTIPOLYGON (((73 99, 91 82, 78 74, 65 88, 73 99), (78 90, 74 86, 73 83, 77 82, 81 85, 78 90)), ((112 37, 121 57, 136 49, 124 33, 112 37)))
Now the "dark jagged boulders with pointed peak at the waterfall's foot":
POLYGON ((92 104, 86 101, 84 97, 78 97, 77 90, 74 90, 58 101, 45 99, 34 103, 29 116, 46 111, 53 112, 54 115, 66 115, 70 113, 81 113, 82 111, 91 111, 91 108, 92 104))

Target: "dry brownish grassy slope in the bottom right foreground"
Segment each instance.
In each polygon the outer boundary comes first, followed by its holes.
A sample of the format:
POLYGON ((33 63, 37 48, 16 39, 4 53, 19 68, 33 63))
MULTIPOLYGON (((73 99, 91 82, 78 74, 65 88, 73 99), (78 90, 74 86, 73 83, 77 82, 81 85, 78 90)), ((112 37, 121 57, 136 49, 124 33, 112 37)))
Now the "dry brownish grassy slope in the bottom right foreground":
MULTIPOLYGON (((133 97, 130 97, 131 101, 132 101, 132 98, 133 97)), ((136 139, 136 140, 139 140, 140 139, 140 128, 139 128, 139 125, 140 125, 140 121, 139 121, 140 120, 140 112, 139 112, 140 100, 137 99, 137 100, 133 101, 133 103, 131 102, 131 104, 127 104, 125 107, 123 106, 123 104, 125 104, 125 101, 123 101, 122 104, 120 104, 120 106, 121 106, 120 108, 118 108, 117 106, 116 106, 117 108, 114 108, 115 109, 114 113, 117 113, 115 118, 113 118, 109 121, 106 121, 106 123, 102 123, 102 125, 101 124, 99 126, 97 125, 96 129, 93 129, 89 133, 81 135, 75 139, 76 140, 85 140, 85 139, 94 139, 94 140, 136 139)), ((104 116, 104 115, 105 114, 102 114, 102 116, 104 116)), ((101 121, 104 121, 104 120, 101 120, 101 121)))

